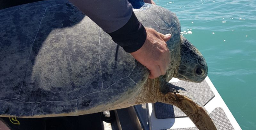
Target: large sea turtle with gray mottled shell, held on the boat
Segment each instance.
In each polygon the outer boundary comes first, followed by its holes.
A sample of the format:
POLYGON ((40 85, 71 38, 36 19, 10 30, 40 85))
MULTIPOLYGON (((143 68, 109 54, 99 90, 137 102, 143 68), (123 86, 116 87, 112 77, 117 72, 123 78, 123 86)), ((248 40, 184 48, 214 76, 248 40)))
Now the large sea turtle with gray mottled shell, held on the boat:
POLYGON ((217 130, 186 90, 167 81, 200 82, 207 64, 180 35, 175 13, 145 4, 138 20, 171 33, 166 75, 149 71, 65 0, 46 0, 0 10, 0 117, 91 114, 160 101, 181 108, 200 130, 217 130))

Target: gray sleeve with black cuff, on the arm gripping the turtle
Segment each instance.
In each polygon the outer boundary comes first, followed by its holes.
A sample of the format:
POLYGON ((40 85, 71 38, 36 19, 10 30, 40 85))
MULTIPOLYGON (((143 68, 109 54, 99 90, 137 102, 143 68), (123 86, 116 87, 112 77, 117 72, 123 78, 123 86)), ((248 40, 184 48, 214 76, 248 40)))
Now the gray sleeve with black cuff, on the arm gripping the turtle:
POLYGON ((126 52, 135 52, 146 40, 146 30, 127 0, 70 0, 126 52))

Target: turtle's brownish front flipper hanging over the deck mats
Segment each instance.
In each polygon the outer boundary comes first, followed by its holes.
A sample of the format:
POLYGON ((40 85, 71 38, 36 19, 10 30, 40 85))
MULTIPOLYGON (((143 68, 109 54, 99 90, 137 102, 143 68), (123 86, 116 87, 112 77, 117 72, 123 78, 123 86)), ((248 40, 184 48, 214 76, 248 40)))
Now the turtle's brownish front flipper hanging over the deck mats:
POLYGON ((180 108, 199 130, 218 130, 207 110, 184 88, 161 80, 160 102, 180 108))

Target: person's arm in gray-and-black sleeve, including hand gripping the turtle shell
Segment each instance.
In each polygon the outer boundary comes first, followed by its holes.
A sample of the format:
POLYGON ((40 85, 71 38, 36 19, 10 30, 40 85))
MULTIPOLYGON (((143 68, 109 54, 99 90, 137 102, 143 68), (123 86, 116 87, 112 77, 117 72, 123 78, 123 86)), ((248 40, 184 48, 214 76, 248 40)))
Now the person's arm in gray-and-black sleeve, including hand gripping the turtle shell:
POLYGON ((126 52, 151 74, 149 78, 164 75, 170 62, 165 43, 171 36, 164 36, 154 29, 145 29, 132 11, 127 0, 70 0, 89 16, 126 52))

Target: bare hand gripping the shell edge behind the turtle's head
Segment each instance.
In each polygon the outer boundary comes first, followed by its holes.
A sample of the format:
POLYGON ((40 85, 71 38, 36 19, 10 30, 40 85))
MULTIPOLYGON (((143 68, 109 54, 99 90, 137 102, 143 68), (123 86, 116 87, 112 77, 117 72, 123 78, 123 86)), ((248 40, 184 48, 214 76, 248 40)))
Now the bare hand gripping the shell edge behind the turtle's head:
POLYGON ((131 55, 150 70, 148 78, 164 75, 171 62, 170 51, 166 42, 171 34, 164 35, 151 28, 145 28, 147 38, 143 46, 131 55))

